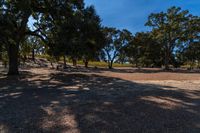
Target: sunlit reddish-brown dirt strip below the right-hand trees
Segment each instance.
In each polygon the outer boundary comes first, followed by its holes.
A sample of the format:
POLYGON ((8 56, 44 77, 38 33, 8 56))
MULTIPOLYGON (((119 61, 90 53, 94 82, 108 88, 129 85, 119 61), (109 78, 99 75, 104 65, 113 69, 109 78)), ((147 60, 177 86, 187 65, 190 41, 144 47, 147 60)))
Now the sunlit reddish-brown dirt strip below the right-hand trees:
POLYGON ((102 70, 104 76, 122 78, 125 80, 200 80, 200 72, 195 73, 192 71, 177 70, 171 72, 164 72, 161 69, 134 69, 134 68, 121 68, 113 69, 111 71, 102 70))

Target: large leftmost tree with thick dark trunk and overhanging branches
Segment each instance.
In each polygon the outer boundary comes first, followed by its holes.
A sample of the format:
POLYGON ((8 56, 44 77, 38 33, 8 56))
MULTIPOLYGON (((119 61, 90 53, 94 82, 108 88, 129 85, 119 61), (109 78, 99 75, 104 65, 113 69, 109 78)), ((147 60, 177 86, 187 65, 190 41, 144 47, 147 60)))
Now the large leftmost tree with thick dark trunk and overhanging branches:
MULTIPOLYGON (((77 8, 83 6, 83 1, 74 0, 21 0, 21 1, 0 1, 0 43, 6 44, 9 56, 9 75, 18 75, 19 65, 19 45, 23 43, 27 35, 34 35, 47 39, 46 35, 39 31, 48 31, 52 27, 56 27, 59 23, 59 18, 65 17, 62 14, 73 13, 77 8), (68 12, 69 11, 69 12, 68 12), (28 27, 30 18, 37 22, 35 31, 28 27), (46 20, 46 27, 40 25, 41 20, 46 20), (52 26, 54 25, 54 26, 52 26), (51 27, 51 28, 50 28, 51 27)), ((68 15, 69 16, 69 15, 68 15)), ((43 21, 44 22, 44 21, 43 21)), ((43 23, 44 24, 44 23, 43 23)))

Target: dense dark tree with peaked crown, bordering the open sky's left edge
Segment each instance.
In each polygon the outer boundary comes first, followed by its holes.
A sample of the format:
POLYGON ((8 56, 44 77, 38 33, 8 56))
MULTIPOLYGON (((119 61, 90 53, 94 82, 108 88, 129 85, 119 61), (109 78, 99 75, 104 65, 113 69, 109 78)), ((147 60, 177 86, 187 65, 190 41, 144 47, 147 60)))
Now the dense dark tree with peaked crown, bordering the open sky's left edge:
POLYGON ((53 37, 58 45, 53 45, 53 52, 55 55, 63 56, 64 66, 65 56, 68 56, 72 59, 74 66, 77 59, 83 58, 87 67, 88 61, 101 50, 104 44, 103 37, 101 20, 94 7, 90 6, 77 10, 70 18, 60 21, 53 37))

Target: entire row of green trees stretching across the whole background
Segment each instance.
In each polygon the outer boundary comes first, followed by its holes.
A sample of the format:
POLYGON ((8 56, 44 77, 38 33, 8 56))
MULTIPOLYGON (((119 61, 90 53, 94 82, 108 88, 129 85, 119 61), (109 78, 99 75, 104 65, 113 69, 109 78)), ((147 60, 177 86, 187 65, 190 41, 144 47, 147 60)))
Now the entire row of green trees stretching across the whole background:
POLYGON ((200 18, 171 7, 153 13, 149 32, 103 27, 93 6, 83 0, 0 0, 0 60, 9 75, 19 74, 20 61, 31 53, 48 54, 85 67, 91 60, 131 63, 137 67, 200 66, 200 18))

